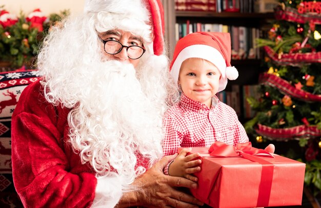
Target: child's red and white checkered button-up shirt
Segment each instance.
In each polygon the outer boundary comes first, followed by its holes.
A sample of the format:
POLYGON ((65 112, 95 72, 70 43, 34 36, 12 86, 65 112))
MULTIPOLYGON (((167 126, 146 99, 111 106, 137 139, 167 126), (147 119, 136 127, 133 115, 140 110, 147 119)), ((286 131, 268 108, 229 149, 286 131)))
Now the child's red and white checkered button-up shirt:
POLYGON ((182 94, 179 103, 164 116, 164 155, 177 153, 178 147, 209 147, 215 141, 236 145, 249 138, 233 108, 212 98, 211 109, 182 94))

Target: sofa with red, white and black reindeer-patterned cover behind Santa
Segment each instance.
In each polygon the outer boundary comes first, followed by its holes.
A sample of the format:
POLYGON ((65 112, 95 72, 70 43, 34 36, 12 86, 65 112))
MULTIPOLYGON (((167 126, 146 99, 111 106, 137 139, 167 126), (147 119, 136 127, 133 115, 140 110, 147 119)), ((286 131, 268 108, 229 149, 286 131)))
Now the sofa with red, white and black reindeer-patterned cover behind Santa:
POLYGON ((0 207, 23 207, 12 180, 11 116, 21 92, 39 79, 37 70, 0 72, 0 207))

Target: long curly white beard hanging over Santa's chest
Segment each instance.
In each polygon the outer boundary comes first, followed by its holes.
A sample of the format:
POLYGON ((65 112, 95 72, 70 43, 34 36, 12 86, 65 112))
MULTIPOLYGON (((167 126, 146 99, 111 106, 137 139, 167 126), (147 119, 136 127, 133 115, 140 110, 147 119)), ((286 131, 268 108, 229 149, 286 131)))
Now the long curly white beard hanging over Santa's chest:
POLYGON ((148 158, 146 167, 162 156, 160 108, 143 92, 131 64, 107 61, 89 74, 86 87, 69 82, 69 89, 78 88, 78 102, 68 116, 70 142, 98 174, 115 170, 129 184, 145 172, 142 166, 135 169, 135 153, 148 158))

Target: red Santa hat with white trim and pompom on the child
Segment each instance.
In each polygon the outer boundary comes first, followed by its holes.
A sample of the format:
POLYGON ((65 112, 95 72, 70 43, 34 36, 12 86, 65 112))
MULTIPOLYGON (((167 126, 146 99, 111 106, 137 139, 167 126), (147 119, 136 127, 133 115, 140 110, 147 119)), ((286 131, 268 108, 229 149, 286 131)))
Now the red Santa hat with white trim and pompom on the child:
POLYGON ((225 89, 227 79, 238 77, 236 68, 231 66, 231 37, 226 32, 195 32, 180 39, 175 47, 170 73, 178 82, 179 69, 189 58, 200 58, 213 63, 221 72, 218 91, 225 89))

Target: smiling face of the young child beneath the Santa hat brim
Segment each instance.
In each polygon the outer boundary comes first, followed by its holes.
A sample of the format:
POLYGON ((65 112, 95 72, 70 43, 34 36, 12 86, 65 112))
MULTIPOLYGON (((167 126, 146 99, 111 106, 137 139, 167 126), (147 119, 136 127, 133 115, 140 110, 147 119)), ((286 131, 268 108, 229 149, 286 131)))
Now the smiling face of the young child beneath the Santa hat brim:
POLYGON ((204 59, 190 58, 180 66, 178 84, 184 94, 211 107, 211 99, 218 90, 220 71, 204 59))

